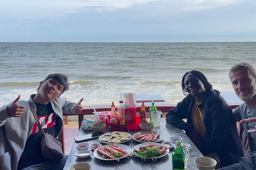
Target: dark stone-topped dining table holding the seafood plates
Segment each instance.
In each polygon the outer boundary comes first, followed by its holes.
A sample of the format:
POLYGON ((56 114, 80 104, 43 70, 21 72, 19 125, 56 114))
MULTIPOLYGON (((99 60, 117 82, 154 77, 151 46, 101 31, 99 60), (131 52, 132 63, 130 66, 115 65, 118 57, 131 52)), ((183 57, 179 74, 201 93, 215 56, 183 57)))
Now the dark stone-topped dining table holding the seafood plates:
MULTIPOLYGON (((165 119, 165 118, 164 118, 165 119)), ((163 140, 161 141, 157 141, 156 143, 162 143, 163 141, 170 141, 170 137, 171 136, 180 136, 183 138, 182 143, 188 143, 190 144, 190 156, 189 156, 189 160, 188 160, 188 165, 187 165, 187 170, 196 170, 196 166, 194 163, 194 159, 197 157, 202 157, 202 153, 197 149, 197 147, 193 144, 193 142, 188 138, 188 136, 185 134, 185 132, 182 129, 173 127, 172 125, 166 123, 166 121, 164 120, 164 122, 160 125, 160 127, 158 128, 153 128, 152 130, 158 130, 160 131, 160 133, 162 133, 164 135, 163 140)), ((130 133, 131 135, 142 131, 141 129, 137 129, 137 130, 129 130, 125 131, 127 133, 130 133)), ((99 135, 102 135, 104 133, 109 133, 109 128, 105 128, 101 133, 98 133, 99 135)), ((90 133, 94 133, 94 131, 92 130, 84 130, 82 127, 79 129, 78 135, 77 136, 81 136, 81 135, 85 135, 85 134, 90 134, 90 133)), ((95 138, 95 139, 91 139, 91 140, 87 140, 85 142, 88 142, 90 144, 93 143, 100 143, 101 145, 107 145, 106 143, 103 143, 99 140, 99 138, 95 138)), ((73 147, 69 153, 67 162, 64 166, 64 170, 68 170, 68 168, 76 163, 80 163, 80 162, 86 162, 86 163, 90 163, 92 165, 92 170, 105 170, 105 169, 116 169, 116 170, 155 170, 155 169, 172 169, 172 152, 173 152, 173 148, 169 150, 169 153, 166 154, 165 156, 159 157, 156 160, 152 160, 152 159, 146 159, 142 160, 140 157, 135 157, 135 155, 133 155, 131 153, 131 157, 129 158, 123 158, 120 159, 120 161, 116 161, 116 160, 112 160, 112 161, 108 161, 108 160, 102 160, 102 159, 98 159, 96 158, 93 154, 88 157, 88 158, 84 158, 84 159, 80 159, 77 158, 75 156, 75 153, 78 152, 78 150, 76 149, 76 144, 78 142, 74 142, 73 147)), ((131 138, 130 140, 121 143, 124 145, 129 146, 131 149, 133 149, 133 146, 136 146, 138 144, 141 144, 141 142, 134 140, 133 138, 131 138)), ((90 149, 88 149, 90 150, 90 149)))

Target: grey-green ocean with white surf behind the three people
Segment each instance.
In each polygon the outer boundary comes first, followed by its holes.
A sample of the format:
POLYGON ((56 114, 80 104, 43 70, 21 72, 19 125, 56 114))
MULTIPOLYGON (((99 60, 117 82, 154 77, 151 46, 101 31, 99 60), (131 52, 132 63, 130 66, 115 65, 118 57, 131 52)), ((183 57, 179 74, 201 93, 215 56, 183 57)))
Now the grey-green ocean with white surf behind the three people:
POLYGON ((0 42, 0 105, 28 100, 48 74, 64 73, 78 102, 114 101, 120 91, 160 93, 167 104, 184 95, 182 76, 198 68, 219 91, 233 91, 237 63, 256 68, 256 42, 0 42))

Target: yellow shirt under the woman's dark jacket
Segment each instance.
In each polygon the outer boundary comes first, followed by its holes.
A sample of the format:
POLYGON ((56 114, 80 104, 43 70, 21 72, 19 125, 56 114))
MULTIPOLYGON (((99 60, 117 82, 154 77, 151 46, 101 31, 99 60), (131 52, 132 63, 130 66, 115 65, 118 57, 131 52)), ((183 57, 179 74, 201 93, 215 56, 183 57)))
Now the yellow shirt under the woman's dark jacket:
POLYGON ((204 118, 204 113, 202 111, 202 109, 200 109, 198 107, 198 105, 200 105, 202 102, 197 102, 195 100, 195 104, 192 108, 192 114, 191 114, 191 119, 192 119, 192 122, 193 122, 193 126, 195 128, 195 130, 200 133, 202 135, 203 138, 206 139, 206 136, 205 136, 205 128, 204 128, 204 121, 203 121, 203 118, 204 118))

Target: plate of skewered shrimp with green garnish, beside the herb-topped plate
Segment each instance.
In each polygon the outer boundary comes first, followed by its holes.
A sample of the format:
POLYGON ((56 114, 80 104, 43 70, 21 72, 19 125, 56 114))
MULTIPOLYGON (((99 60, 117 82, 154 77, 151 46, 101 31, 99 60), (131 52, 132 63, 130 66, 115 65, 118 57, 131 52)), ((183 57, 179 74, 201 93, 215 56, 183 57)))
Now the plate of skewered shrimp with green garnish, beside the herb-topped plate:
POLYGON ((129 146, 123 144, 108 144, 98 147, 93 151, 93 155, 101 160, 106 161, 119 161, 119 159, 131 156, 132 149, 129 146))

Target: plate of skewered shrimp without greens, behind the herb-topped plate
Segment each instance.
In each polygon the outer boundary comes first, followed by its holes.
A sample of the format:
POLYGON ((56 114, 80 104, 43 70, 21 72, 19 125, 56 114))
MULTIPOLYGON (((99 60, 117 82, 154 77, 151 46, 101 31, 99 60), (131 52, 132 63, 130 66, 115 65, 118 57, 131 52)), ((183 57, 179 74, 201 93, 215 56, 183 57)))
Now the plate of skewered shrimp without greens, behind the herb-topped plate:
POLYGON ((140 131, 135 133, 132 138, 138 142, 159 142, 164 139, 164 134, 158 131, 140 131))

